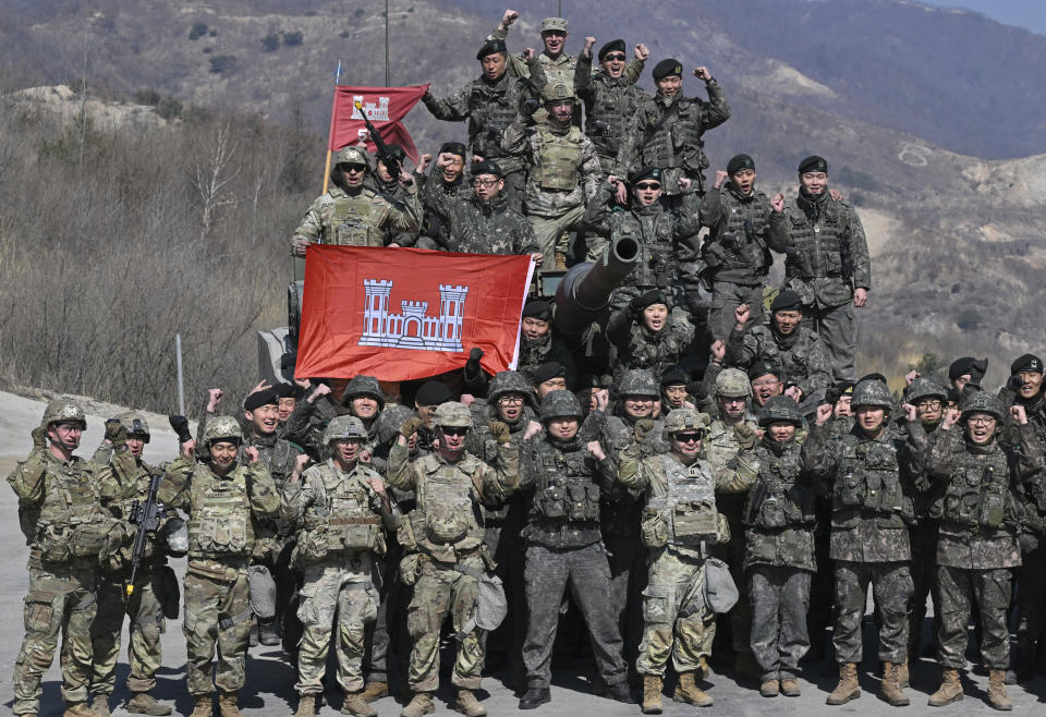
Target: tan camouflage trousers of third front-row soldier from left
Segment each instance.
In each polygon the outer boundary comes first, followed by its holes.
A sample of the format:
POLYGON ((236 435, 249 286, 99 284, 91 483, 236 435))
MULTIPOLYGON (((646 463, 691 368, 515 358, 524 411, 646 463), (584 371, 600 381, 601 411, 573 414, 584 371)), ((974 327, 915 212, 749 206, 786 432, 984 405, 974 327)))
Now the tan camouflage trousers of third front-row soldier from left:
MULTIPOLYGON (((251 588, 246 566, 228 567, 222 576, 194 570, 185 573, 185 682, 192 695, 236 692, 243 686, 251 635, 251 588), (217 666, 212 665, 217 647, 217 666), (211 679, 214 672, 214 679, 211 679)), ((215 563, 208 561, 208 566, 215 563)))

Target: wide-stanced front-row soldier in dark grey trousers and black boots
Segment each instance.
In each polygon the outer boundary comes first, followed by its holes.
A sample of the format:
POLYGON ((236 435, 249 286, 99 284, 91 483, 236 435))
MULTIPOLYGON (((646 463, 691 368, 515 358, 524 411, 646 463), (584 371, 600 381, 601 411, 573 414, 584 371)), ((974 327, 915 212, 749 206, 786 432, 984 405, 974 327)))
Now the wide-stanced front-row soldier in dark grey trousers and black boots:
POLYGON ((568 585, 592 635, 607 693, 631 703, 621 633, 606 601, 610 569, 599 532, 600 495, 613 479, 613 464, 598 442, 583 442, 581 404, 573 393, 549 392, 540 411, 545 433, 525 445, 520 465, 520 487, 533 491, 521 533, 530 620, 523 644, 527 689, 520 709, 551 700, 552 646, 568 585))

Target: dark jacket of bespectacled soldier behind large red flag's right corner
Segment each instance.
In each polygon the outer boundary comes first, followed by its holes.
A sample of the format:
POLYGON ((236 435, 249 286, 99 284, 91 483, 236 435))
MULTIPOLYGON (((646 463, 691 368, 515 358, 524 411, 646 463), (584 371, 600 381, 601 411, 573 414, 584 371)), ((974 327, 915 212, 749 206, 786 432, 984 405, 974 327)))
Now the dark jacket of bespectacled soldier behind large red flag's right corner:
POLYGON ((442 246, 449 252, 504 255, 538 251, 531 224, 523 215, 509 209, 503 194, 492 199, 473 194, 462 200, 437 192, 429 199, 440 223, 447 226, 447 243, 442 246))

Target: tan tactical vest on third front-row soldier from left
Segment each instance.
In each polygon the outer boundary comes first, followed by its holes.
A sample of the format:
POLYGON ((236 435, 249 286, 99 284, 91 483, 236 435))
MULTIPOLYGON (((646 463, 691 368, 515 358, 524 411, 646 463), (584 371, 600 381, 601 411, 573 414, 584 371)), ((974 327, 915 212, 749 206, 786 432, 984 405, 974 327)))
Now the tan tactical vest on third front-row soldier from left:
POLYGON ((246 469, 236 466, 218 477, 206 465, 197 465, 190 481, 188 557, 251 555, 254 525, 246 469))

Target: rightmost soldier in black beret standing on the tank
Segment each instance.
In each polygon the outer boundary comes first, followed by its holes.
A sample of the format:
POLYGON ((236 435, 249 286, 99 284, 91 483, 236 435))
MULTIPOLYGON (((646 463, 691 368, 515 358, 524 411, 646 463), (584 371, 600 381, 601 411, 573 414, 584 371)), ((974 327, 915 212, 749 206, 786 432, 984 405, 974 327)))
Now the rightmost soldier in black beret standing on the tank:
POLYGON ((835 380, 855 380, 858 332, 854 308, 867 301, 872 263, 861 218, 849 202, 828 191, 828 162, 807 157, 799 165, 799 196, 770 202, 769 245, 784 254, 783 290, 796 292, 803 321, 831 357, 835 380))

